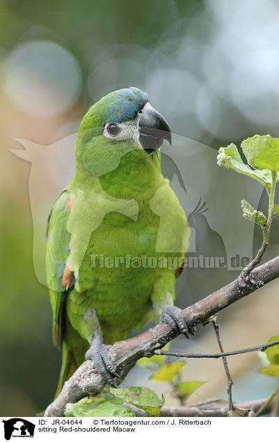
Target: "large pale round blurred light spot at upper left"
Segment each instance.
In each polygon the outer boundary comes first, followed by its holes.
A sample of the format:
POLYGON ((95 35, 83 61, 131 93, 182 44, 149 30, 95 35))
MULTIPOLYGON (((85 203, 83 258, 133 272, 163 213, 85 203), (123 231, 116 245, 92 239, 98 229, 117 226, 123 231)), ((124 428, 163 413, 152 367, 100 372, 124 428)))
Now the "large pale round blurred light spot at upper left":
POLYGON ((19 44, 3 66, 3 88, 20 111, 42 118, 67 111, 81 92, 77 60, 59 44, 19 44))

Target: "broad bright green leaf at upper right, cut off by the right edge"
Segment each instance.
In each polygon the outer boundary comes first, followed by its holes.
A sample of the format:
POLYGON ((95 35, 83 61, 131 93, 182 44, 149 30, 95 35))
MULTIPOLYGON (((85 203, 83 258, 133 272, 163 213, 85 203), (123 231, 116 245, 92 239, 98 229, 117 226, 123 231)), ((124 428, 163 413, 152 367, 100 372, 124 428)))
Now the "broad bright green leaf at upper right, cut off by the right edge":
POLYGON ((270 135, 255 135, 241 143, 248 163, 259 170, 279 170, 279 138, 270 135))

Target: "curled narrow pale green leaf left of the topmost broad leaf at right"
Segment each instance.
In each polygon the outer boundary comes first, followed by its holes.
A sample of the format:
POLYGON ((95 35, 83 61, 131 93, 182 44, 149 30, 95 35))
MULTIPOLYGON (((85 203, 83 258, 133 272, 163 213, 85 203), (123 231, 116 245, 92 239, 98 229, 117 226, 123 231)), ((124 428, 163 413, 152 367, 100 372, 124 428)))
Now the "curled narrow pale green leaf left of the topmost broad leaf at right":
POLYGON ((253 170, 244 164, 237 150, 237 146, 233 143, 228 147, 221 147, 218 151, 217 164, 224 165, 228 169, 234 169, 240 174, 256 179, 266 188, 271 188, 272 174, 270 170, 253 170))

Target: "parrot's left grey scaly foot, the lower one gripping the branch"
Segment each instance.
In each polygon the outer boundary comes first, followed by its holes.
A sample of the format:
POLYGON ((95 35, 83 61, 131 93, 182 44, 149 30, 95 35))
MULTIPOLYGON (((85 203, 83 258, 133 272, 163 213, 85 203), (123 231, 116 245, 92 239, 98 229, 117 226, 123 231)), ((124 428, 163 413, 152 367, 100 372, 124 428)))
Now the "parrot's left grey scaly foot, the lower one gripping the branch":
POLYGON ((117 387, 113 377, 119 377, 119 375, 116 373, 115 366, 109 357, 106 345, 103 343, 97 343, 96 345, 93 341, 90 349, 86 352, 86 359, 90 359, 95 363, 95 367, 106 384, 110 384, 115 388, 117 387))

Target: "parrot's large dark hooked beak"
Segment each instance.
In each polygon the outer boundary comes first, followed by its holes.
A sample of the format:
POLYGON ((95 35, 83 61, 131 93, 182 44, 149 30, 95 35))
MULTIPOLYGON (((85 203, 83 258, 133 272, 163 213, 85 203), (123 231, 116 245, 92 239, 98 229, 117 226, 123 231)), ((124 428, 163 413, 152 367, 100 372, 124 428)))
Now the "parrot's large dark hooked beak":
POLYGON ((148 103, 143 108, 143 116, 139 120, 138 128, 140 133, 140 142, 146 152, 152 154, 154 150, 159 149, 164 142, 168 140, 171 145, 170 126, 163 115, 152 108, 148 103))

